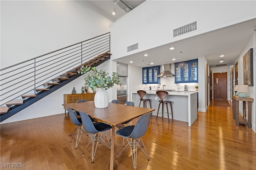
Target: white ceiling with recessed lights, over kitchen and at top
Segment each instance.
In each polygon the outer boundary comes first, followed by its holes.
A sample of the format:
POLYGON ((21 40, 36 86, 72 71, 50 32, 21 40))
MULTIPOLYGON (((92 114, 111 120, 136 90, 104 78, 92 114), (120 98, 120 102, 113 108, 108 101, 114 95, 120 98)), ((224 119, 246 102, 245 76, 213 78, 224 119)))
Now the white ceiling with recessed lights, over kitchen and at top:
MULTIPOLYGON (((111 17, 112 10, 114 9, 116 12, 116 15, 114 16, 115 20, 126 14, 126 12, 111 0, 96 0, 89 2, 111 17)), ((144 2, 144 0, 125 0, 125 2, 132 8, 135 8, 144 2)), ((223 59, 224 63, 228 63, 227 65, 233 65, 254 34, 255 27, 256 19, 253 19, 122 57, 115 61, 146 67, 149 65, 155 66, 187 61, 205 56, 210 67, 214 67, 215 64, 220 64, 220 59, 223 59), (175 49, 169 50, 170 47, 175 47, 175 49), (144 57, 144 54, 148 54, 148 56, 144 57), (219 57, 220 55, 225 55, 225 57, 221 58, 219 57), (176 61, 172 61, 173 58, 176 58, 176 61), (129 63, 130 61, 133 61, 133 63, 129 63)))

